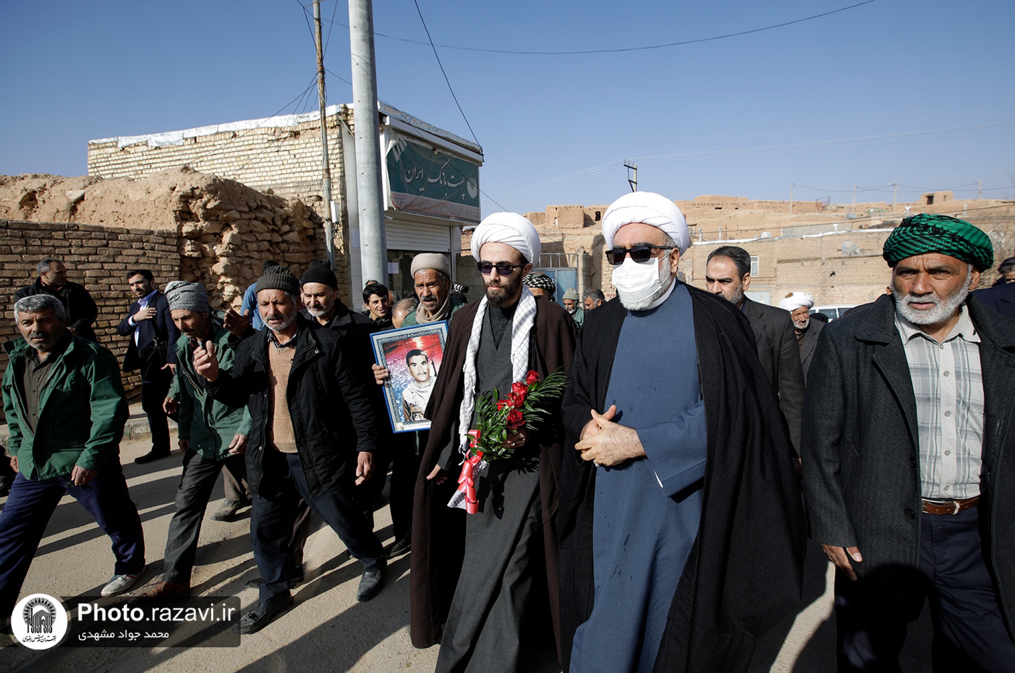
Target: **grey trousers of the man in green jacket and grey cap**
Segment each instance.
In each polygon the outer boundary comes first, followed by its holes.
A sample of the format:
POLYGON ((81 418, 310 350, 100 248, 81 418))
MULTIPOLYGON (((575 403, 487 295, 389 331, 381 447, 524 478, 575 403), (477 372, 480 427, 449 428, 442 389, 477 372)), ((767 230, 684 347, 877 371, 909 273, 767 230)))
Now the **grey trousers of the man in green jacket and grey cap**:
POLYGON ((165 540, 163 582, 190 584, 208 498, 222 468, 226 471, 236 469, 236 464, 243 469, 244 456, 210 460, 196 451, 188 451, 184 456, 184 473, 177 489, 177 512, 170 522, 170 534, 165 540))

